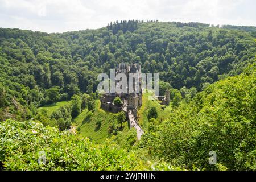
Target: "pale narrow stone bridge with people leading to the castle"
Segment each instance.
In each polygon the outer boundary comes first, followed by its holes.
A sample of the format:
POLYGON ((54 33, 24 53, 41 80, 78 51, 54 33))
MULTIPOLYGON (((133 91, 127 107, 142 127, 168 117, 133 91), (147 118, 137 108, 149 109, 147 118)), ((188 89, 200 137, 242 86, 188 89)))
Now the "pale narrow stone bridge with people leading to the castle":
POLYGON ((137 132, 137 139, 138 140, 141 139, 141 136, 144 134, 144 131, 142 130, 141 126, 139 126, 139 123, 135 119, 133 111, 131 111, 130 109, 127 110, 127 100, 125 100, 122 110, 125 111, 125 113, 127 113, 128 119, 130 122, 130 126, 135 127, 136 132, 137 132))

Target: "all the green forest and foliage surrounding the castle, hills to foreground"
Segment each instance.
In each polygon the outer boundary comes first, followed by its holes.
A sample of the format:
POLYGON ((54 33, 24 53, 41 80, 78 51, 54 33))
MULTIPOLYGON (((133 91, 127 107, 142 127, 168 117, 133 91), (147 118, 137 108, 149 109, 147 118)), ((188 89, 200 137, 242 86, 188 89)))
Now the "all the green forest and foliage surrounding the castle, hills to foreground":
POLYGON ((0 169, 255 170, 255 32, 137 20, 62 34, 0 28, 0 169), (150 114, 140 141, 115 122, 120 115, 98 109, 98 73, 121 62, 159 73, 160 94, 171 91, 170 107, 142 106, 150 114), (98 128, 108 119, 105 142, 79 135, 83 116, 98 128), (78 134, 67 131, 73 125, 78 134), (41 150, 46 166, 37 163, 41 150))

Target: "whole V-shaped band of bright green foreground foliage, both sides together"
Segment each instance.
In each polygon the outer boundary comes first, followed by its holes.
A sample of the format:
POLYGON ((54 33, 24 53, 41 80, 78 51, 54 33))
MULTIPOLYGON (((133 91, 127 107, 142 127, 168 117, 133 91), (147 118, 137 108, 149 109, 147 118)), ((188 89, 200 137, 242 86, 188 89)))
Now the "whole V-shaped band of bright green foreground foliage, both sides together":
POLYGON ((129 149, 129 154, 122 145, 117 146, 115 140, 104 145, 94 144, 69 131, 57 131, 31 120, 17 122, 9 119, 0 123, 0 139, 3 141, 0 161, 13 170, 179 170, 195 167, 254 170, 255 76, 255 66, 251 66, 240 76, 209 85, 191 102, 181 101, 170 118, 147 131, 141 141, 129 149), (47 154, 47 165, 43 167, 36 163, 37 154, 42 149, 47 154), (212 150, 218 157, 218 164, 214 166, 207 163, 206 157, 212 150), (155 166, 151 168, 152 162, 155 166))

